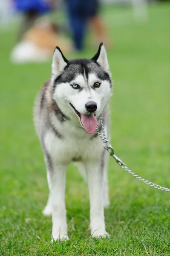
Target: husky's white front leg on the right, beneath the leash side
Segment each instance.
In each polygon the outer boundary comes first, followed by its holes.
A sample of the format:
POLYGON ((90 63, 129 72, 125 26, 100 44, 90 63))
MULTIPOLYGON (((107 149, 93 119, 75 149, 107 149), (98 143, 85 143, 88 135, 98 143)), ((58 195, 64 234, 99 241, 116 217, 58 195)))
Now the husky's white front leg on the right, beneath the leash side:
MULTIPOLYGON (((100 161, 99 161, 100 162, 100 161)), ((104 172, 100 163, 86 163, 90 198, 90 228, 93 237, 105 237, 103 185, 104 172)))

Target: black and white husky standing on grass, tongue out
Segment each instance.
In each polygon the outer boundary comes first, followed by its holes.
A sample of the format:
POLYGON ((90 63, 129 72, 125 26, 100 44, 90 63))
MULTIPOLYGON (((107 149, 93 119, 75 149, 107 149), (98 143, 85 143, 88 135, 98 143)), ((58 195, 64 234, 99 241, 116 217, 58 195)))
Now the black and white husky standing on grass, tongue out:
POLYGON ((92 59, 68 61, 59 47, 52 60, 52 76, 40 90, 35 107, 35 125, 46 162, 49 198, 43 210, 52 214, 52 237, 67 234, 66 167, 75 162, 86 175, 90 199, 90 229, 93 237, 105 237, 104 207, 109 205, 107 157, 101 138, 100 116, 109 136, 107 103, 112 81, 107 53, 101 43, 92 59))

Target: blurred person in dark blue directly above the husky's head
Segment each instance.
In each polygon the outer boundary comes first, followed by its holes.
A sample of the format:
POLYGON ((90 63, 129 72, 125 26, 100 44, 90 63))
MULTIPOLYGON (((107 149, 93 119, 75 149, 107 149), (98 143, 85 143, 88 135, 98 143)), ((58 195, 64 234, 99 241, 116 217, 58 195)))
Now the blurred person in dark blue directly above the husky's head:
POLYGON ((98 0, 66 0, 66 5, 76 50, 84 48, 84 36, 88 23, 92 25, 98 42, 106 43, 104 26, 98 15, 100 7, 98 0))

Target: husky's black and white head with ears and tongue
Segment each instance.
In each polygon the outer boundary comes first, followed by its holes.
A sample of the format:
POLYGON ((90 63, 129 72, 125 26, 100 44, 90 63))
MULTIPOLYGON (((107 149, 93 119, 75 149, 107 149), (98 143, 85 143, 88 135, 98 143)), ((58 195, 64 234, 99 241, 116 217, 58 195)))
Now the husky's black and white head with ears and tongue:
POLYGON ((92 59, 68 61, 59 47, 52 61, 52 97, 61 111, 92 134, 112 94, 112 81, 104 45, 92 59))

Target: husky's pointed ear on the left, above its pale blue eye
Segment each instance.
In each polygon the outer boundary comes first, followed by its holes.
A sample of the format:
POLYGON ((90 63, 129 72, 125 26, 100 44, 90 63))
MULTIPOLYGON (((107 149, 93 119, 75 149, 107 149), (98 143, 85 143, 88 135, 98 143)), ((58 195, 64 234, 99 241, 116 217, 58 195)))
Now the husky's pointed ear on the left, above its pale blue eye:
POLYGON ((57 46, 55 47, 53 57, 52 57, 52 75, 59 76, 68 64, 68 60, 64 57, 61 49, 57 46))

